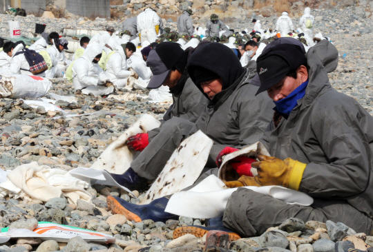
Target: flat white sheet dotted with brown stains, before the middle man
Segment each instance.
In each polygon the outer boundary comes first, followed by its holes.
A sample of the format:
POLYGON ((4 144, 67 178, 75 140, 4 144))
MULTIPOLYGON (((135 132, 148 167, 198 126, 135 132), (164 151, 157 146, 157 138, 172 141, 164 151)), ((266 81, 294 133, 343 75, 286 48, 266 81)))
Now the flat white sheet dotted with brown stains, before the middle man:
POLYGON ((200 130, 182 141, 140 204, 149 204, 193 185, 206 165, 212 145, 213 140, 200 130))

